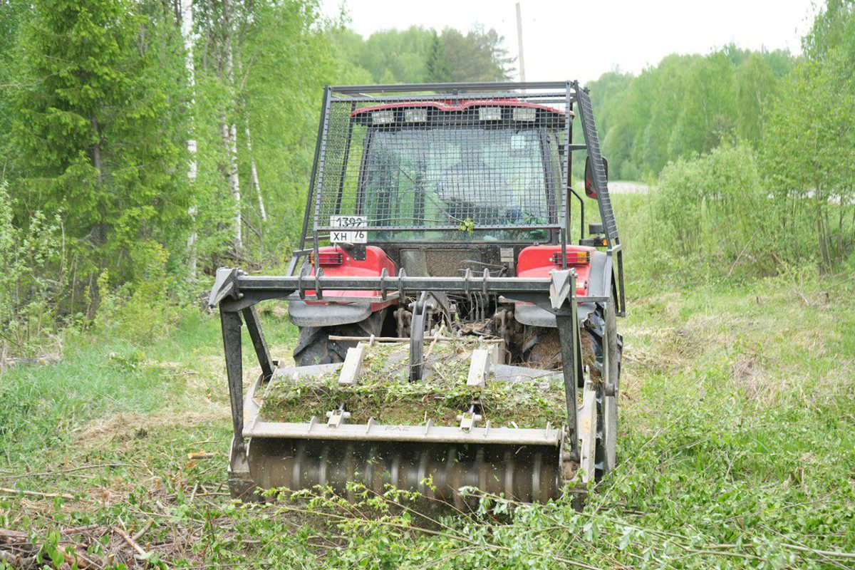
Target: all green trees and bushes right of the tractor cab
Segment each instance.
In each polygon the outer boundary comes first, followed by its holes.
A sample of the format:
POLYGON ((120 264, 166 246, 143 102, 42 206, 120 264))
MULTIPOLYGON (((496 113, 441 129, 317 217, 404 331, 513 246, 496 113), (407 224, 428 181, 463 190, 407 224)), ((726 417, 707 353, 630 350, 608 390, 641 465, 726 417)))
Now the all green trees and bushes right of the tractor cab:
POLYGON ((612 173, 654 185, 641 270, 684 281, 852 271, 853 6, 828 0, 799 57, 730 45, 590 84, 612 173))

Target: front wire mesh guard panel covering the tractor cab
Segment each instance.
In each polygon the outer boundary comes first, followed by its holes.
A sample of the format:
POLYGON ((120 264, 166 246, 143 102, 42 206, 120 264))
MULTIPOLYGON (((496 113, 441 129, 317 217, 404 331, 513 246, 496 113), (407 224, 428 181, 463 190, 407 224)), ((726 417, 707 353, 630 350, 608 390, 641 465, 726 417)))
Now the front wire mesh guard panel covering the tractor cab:
POLYGON ((312 189, 315 232, 515 240, 560 228, 569 90, 459 91, 333 88, 312 189))

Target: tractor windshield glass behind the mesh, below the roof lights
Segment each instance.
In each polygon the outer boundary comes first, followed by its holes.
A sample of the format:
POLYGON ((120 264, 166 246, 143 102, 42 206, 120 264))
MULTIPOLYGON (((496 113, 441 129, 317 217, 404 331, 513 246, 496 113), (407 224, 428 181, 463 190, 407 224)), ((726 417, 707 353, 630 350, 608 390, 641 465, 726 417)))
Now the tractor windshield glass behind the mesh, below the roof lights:
POLYGON ((442 227, 454 241, 544 239, 542 229, 478 229, 543 226, 554 219, 541 140, 536 128, 374 132, 364 157, 362 210, 369 226, 410 228, 372 232, 374 239, 412 241, 442 227))

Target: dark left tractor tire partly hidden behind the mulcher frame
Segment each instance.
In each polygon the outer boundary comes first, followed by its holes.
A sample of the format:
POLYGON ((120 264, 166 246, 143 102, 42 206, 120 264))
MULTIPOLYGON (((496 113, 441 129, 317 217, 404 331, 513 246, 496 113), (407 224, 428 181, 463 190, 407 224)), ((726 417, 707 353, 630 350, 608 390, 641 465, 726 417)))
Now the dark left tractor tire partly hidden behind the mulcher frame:
POLYGON ((297 346, 294 348, 294 362, 297 366, 343 362, 347 349, 356 346, 357 341, 330 340, 329 337, 379 336, 385 318, 386 309, 380 309, 365 320, 347 325, 300 326, 297 346))

